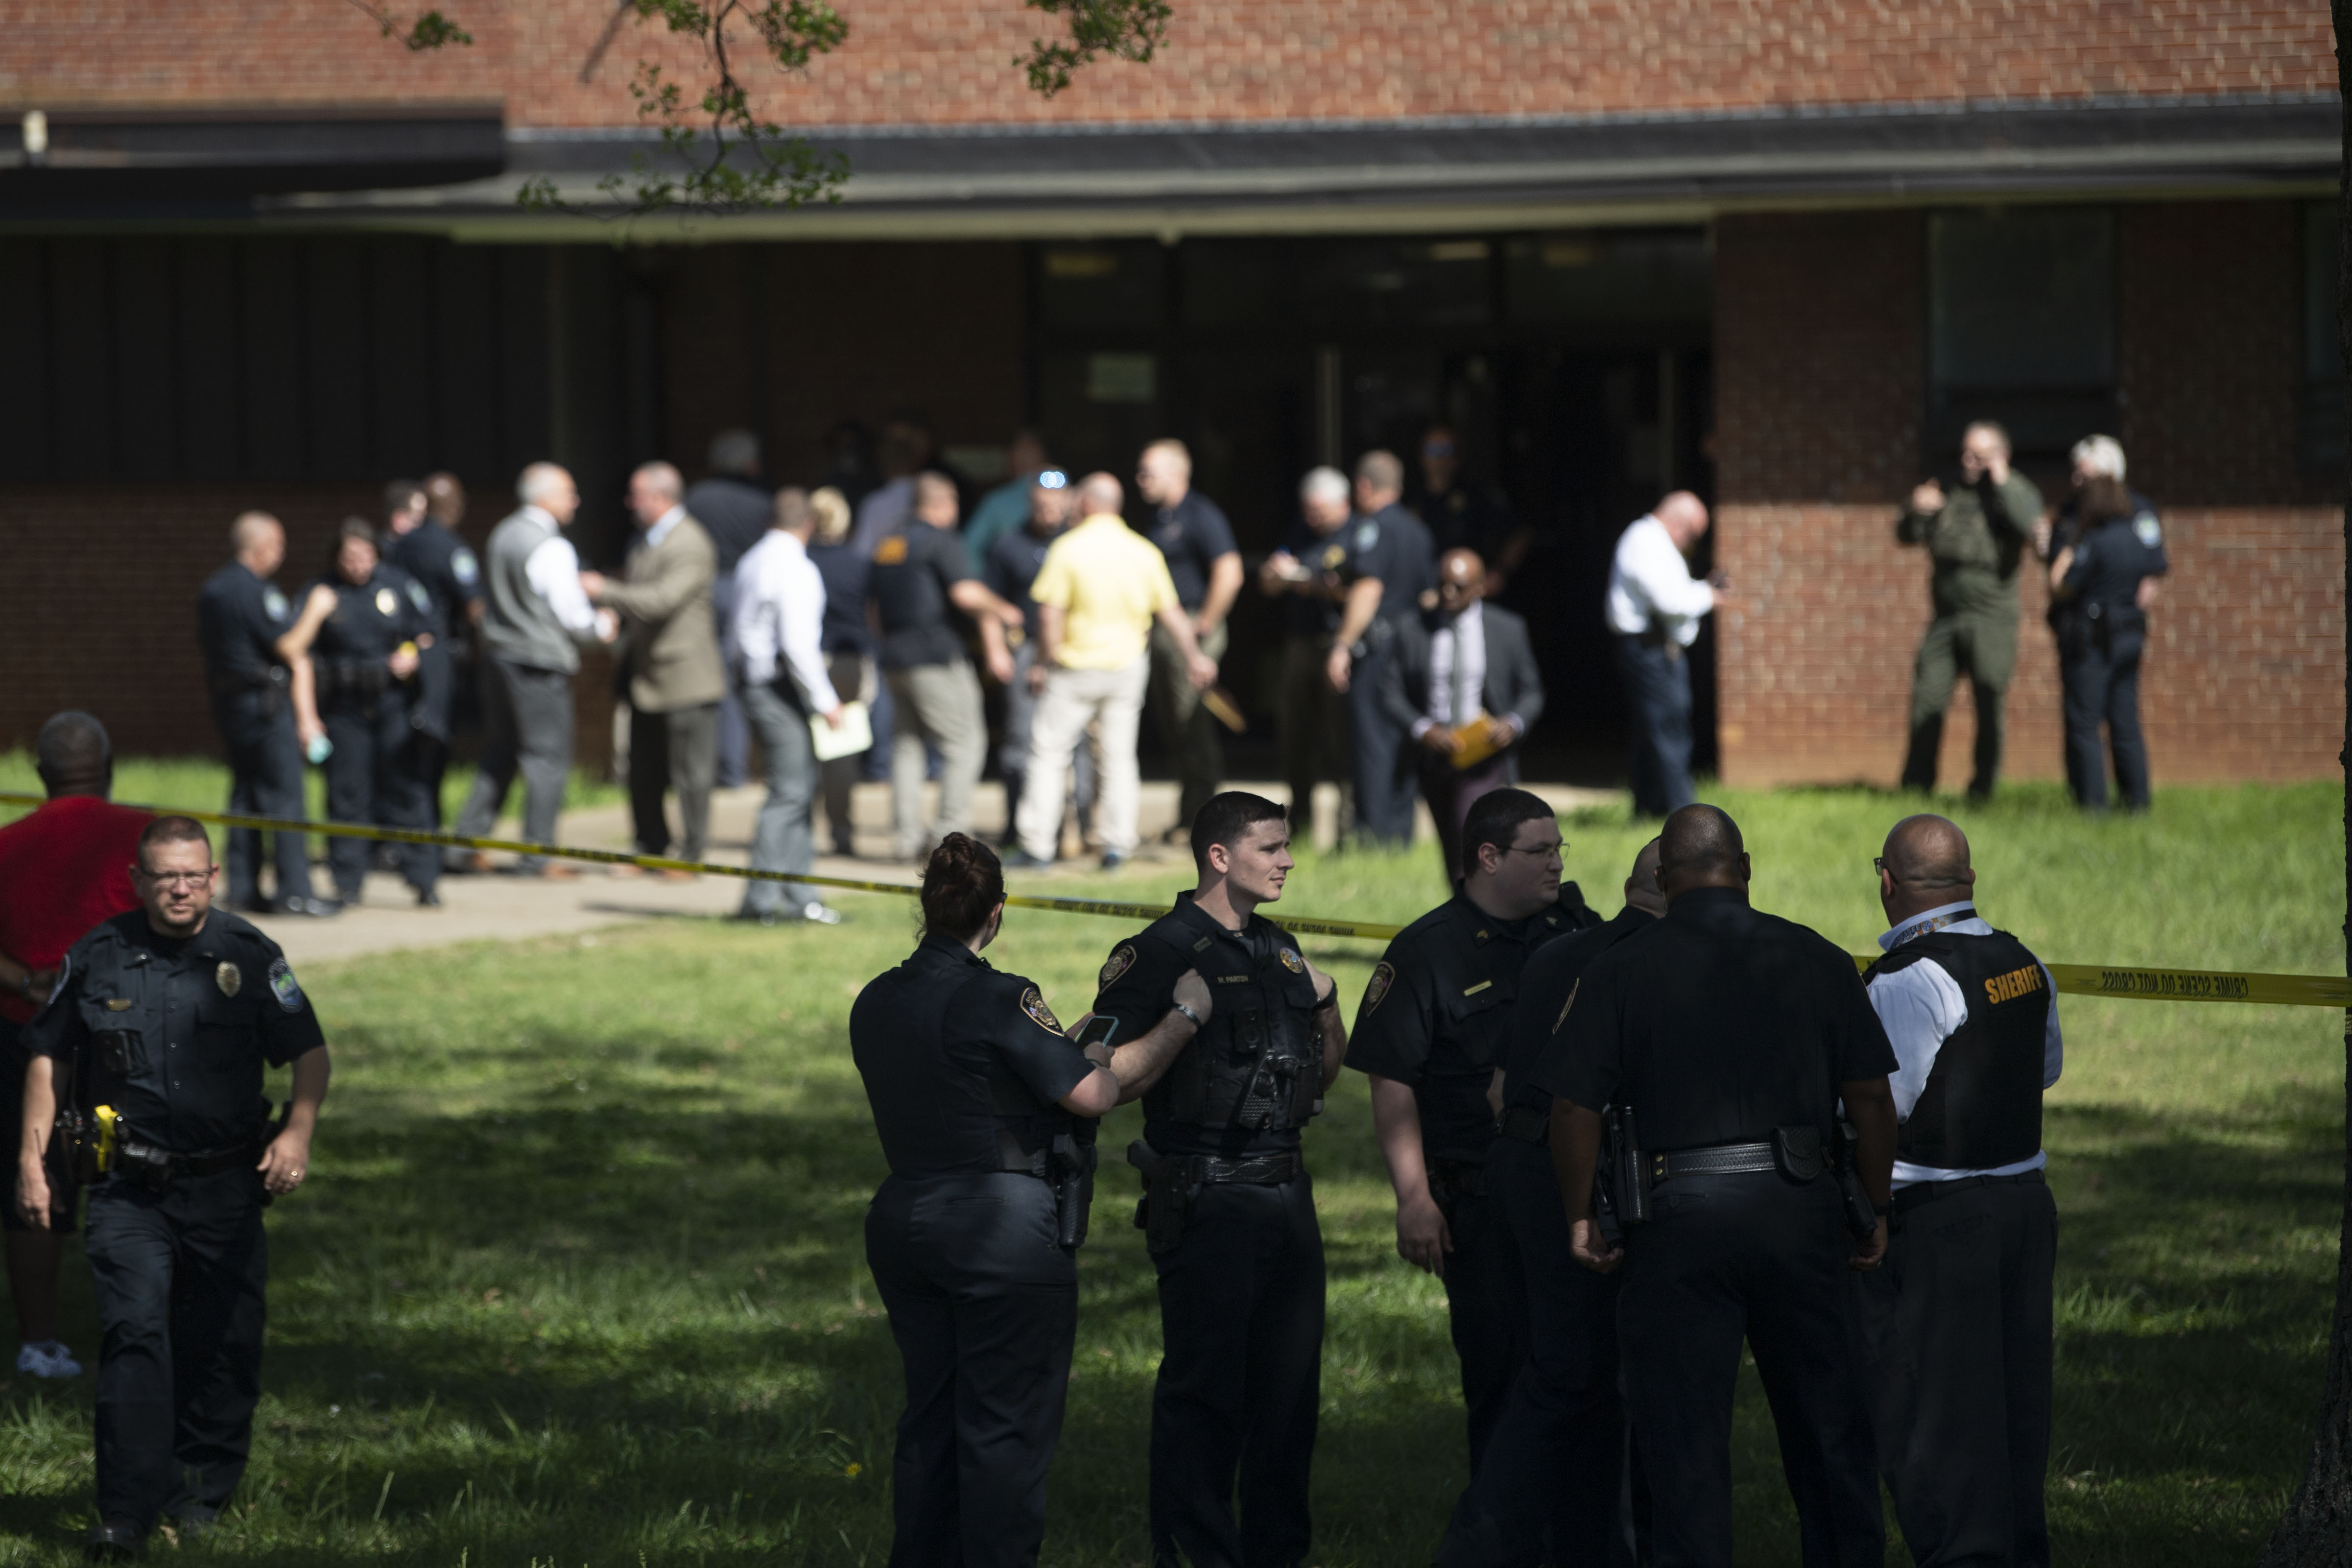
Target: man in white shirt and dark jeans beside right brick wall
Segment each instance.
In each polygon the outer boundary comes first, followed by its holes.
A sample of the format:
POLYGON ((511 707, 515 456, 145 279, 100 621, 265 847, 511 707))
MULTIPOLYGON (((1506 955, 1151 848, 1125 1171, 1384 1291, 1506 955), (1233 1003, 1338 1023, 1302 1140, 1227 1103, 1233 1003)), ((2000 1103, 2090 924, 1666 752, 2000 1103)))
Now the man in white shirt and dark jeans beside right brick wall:
POLYGON ((1693 578, 1684 557, 1705 531, 1705 503, 1677 489, 1618 536, 1609 564, 1609 630, 1632 719, 1635 816, 1670 816, 1696 799, 1689 649, 1722 581, 1693 578))

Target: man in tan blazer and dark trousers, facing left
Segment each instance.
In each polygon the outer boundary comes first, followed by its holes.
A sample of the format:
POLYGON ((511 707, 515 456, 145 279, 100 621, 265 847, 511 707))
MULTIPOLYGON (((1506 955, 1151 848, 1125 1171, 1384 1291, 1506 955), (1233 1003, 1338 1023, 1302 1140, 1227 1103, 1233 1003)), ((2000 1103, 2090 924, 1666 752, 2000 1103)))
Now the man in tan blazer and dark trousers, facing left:
MULTIPOLYGON (((637 538, 623 581, 581 574, 588 599, 621 616, 621 677, 628 682, 628 802, 637 853, 670 853, 661 792, 677 792, 687 860, 703 858, 710 837, 710 783, 720 764, 720 639, 710 616, 717 545, 680 503, 684 482, 668 463, 628 477, 637 538)), ((684 877, 689 872, 661 872, 684 877)))

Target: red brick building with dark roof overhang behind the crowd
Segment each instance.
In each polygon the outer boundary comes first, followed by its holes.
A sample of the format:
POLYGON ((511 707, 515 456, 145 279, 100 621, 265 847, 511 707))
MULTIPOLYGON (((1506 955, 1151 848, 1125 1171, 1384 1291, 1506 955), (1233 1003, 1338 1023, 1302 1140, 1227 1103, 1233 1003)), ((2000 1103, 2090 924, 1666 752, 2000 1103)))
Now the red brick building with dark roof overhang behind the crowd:
MULTIPOLYGON (((974 482, 1018 425, 1117 473, 1183 435, 1258 552, 1305 465, 1444 418, 1538 531, 1538 769, 1611 766, 1606 555, 1689 484, 1740 595, 1700 661, 1722 773, 1889 783, 1926 616, 1891 517, 1994 416, 2049 491, 2119 435, 2166 508, 2159 783, 2338 773, 2321 7, 1178 0, 1152 66, 1047 101, 1014 56, 1051 19, 863 0, 767 94, 844 200, 691 223, 515 205, 652 155, 626 85, 691 52, 609 0, 442 9, 470 47, 294 0, 0 31, 0 745, 82 703, 209 748, 181 656, 245 505, 294 527, 292 583, 390 475, 459 470, 480 531, 555 456, 609 559, 640 458, 743 423, 809 480, 920 411, 974 482)), ((2051 778, 2037 609, 2011 769, 2051 778)))

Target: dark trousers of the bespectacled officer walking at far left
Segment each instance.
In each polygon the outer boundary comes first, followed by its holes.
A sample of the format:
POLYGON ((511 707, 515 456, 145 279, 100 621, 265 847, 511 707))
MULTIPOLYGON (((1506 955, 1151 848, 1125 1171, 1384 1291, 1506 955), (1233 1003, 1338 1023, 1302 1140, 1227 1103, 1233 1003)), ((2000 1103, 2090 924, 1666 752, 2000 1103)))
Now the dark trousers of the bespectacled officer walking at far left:
POLYGON ((268 1241, 247 1168, 162 1194, 108 1178, 82 1225, 99 1295, 99 1516, 207 1519, 245 1476, 268 1241))

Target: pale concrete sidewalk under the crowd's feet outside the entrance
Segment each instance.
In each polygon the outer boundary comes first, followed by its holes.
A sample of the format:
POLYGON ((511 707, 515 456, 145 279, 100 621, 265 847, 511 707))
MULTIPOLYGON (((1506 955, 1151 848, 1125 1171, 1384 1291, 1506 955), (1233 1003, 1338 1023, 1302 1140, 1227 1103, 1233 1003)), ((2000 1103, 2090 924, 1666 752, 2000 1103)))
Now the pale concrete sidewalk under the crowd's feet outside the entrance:
MULTIPOLYGON (((1284 799, 1282 785, 1235 783, 1237 790, 1256 790, 1272 799, 1284 799)), ((1571 785, 1529 785, 1555 806, 1590 809, 1623 806, 1623 790, 1581 790, 1571 785)), ((936 795, 936 792, 934 792, 936 795)), ((1338 818, 1338 790, 1319 788, 1312 811, 1312 839, 1329 844, 1338 818)), ((748 865, 750 832, 767 785, 720 790, 710 799, 710 851, 713 865, 748 865)), ((816 813, 816 842, 830 844, 823 809, 816 813)), ((673 811, 675 820, 675 811, 673 811)), ((851 802, 851 823, 858 858, 818 856, 818 877, 851 877, 863 882, 913 884, 917 867, 889 858, 889 785, 863 783, 851 802)), ((1190 865, 1183 844, 1160 844, 1160 835, 1176 823, 1176 785, 1145 783, 1141 809, 1143 846, 1129 863, 1124 877, 1152 877, 1167 882, 1169 870, 1190 865)), ((974 799, 974 827, 990 842, 1004 832, 1004 788, 981 785, 974 799)), ((520 837, 522 827, 513 818, 499 823, 492 837, 520 837)), ((630 849, 628 806, 593 806, 567 811, 557 825, 562 844, 579 849, 630 849)), ((1416 844, 1432 839, 1428 811, 1418 813, 1416 844)), ((1077 856, 1075 830, 1063 839, 1065 865, 1094 872, 1094 856, 1077 856)), ((1430 851, 1435 853, 1435 851, 1430 851)), ((506 856, 494 856, 503 860, 506 856)), ((397 952, 405 947, 440 947, 447 943, 515 940, 527 936, 555 936, 567 931, 593 931, 640 919, 663 917, 724 917, 743 903, 743 882, 736 877, 699 877, 694 882, 668 882, 621 872, 616 867, 574 863, 576 882, 541 882, 534 877, 442 877, 440 910, 419 910, 414 896, 400 877, 372 872, 358 907, 343 910, 334 919, 282 919, 263 917, 261 924, 287 950, 294 964, 318 964, 329 959, 365 957, 369 952, 397 952)), ((1098 872, 1096 872, 1098 875, 1098 872)), ((1051 882, 1056 872, 1023 872, 1021 886, 1051 882)))

